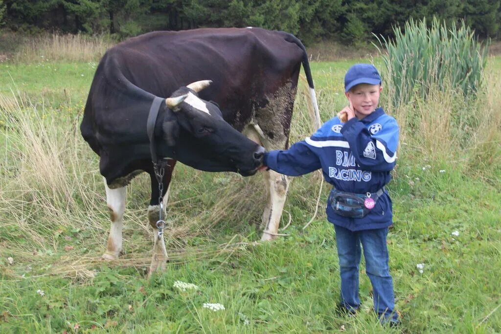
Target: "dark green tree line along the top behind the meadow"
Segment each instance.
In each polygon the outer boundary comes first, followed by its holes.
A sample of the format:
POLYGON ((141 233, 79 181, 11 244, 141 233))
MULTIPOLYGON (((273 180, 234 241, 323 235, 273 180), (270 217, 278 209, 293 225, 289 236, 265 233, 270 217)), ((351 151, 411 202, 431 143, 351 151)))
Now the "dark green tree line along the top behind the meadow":
POLYGON ((152 30, 263 27, 344 44, 391 37, 413 18, 465 24, 497 38, 501 0, 0 0, 0 26, 15 31, 135 36, 152 30))

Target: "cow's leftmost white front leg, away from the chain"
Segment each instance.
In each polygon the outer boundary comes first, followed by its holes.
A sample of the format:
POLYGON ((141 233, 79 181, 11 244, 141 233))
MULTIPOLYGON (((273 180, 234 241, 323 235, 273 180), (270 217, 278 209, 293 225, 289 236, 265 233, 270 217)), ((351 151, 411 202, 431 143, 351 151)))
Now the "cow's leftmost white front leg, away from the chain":
POLYGON ((110 189, 104 180, 106 203, 110 210, 111 228, 103 258, 113 260, 122 252, 122 224, 125 211, 125 187, 110 189))

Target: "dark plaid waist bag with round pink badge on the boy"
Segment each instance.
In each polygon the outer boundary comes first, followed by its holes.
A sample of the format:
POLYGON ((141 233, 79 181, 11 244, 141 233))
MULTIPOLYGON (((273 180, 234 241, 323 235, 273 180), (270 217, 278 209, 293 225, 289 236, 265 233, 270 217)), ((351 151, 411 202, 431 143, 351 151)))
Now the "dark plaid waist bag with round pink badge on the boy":
POLYGON ((332 188, 328 203, 337 214, 348 218, 363 218, 383 195, 383 189, 377 192, 356 194, 353 192, 340 191, 332 188), (372 199, 372 201, 370 200, 372 199))

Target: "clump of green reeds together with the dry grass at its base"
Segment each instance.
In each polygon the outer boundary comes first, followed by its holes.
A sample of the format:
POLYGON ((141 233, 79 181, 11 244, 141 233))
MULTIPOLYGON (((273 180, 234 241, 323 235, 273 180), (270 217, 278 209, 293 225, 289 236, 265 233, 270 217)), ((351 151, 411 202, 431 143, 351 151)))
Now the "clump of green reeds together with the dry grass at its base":
POLYGON ((492 168, 501 123, 499 82, 483 73, 488 43, 464 23, 456 29, 436 19, 430 28, 410 20, 394 32, 394 41, 379 40, 386 48, 381 100, 401 127, 400 157, 456 161, 463 172, 492 168))

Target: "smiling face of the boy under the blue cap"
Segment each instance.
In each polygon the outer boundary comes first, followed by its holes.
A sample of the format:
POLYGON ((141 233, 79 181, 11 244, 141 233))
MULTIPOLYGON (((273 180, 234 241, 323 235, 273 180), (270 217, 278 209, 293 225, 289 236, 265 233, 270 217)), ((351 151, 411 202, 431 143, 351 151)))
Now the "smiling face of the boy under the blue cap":
POLYGON ((379 94, 382 90, 381 85, 360 84, 345 93, 358 119, 364 118, 376 110, 379 94))

